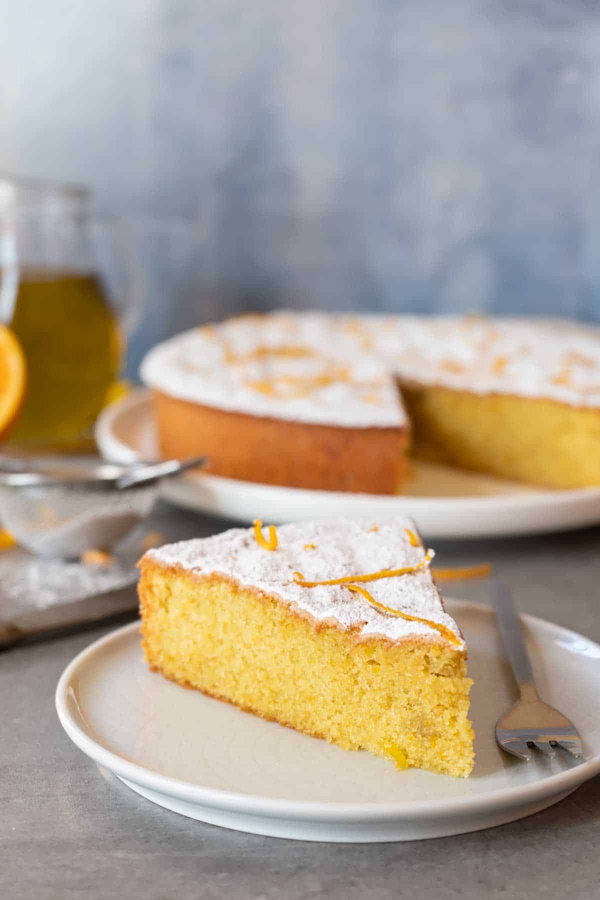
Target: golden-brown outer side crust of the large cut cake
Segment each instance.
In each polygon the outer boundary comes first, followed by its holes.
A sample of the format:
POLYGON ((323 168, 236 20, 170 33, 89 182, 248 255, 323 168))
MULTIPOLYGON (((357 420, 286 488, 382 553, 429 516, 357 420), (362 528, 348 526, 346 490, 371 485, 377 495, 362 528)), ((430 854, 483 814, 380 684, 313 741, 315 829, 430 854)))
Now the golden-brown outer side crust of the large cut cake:
POLYGON ((153 392, 163 456, 205 454, 244 482, 392 494, 405 477, 407 428, 342 428, 217 410, 153 392))

